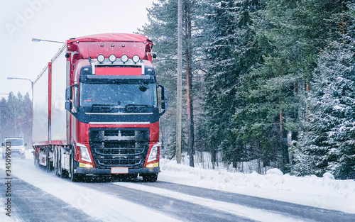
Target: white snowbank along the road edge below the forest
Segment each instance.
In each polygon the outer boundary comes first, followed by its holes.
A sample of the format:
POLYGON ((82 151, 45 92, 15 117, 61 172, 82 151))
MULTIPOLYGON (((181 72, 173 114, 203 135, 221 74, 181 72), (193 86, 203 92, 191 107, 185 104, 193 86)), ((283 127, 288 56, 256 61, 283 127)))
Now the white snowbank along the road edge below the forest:
POLYGON ((322 178, 315 175, 295 177, 282 175, 279 170, 269 170, 266 175, 242 174, 178 165, 175 160, 160 162, 160 181, 355 213, 353 179, 331 179, 328 174, 322 178))

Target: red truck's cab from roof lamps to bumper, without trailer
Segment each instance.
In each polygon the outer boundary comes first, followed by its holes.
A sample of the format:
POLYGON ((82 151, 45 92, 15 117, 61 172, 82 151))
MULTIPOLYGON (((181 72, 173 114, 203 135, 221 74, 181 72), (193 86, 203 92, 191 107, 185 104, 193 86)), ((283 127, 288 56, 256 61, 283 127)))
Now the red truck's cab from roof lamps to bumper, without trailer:
POLYGON ((168 103, 151 62, 116 53, 77 60, 73 67, 75 81, 66 93, 71 131, 76 132, 68 161, 71 177, 139 174, 155 181, 160 172, 158 123, 168 103))

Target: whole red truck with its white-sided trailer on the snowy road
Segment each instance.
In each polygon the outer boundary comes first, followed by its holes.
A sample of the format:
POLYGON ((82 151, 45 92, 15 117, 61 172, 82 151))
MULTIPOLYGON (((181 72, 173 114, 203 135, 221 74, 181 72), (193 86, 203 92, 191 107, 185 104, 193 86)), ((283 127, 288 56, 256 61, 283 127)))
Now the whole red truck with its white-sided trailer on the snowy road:
POLYGON ((168 98, 152 47, 144 35, 124 33, 66 41, 33 83, 36 166, 73 182, 87 174, 157 180, 168 98))

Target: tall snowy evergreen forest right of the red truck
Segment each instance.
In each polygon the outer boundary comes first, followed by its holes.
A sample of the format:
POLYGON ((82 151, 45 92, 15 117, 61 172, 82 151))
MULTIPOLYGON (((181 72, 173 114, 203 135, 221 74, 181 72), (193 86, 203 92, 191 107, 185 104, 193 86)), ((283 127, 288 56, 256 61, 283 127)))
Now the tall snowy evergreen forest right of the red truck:
MULTIPOLYGON (((183 0, 182 152, 233 167, 355 179, 355 3, 183 0), (187 96, 190 90, 190 98, 187 96), (189 113, 189 115, 187 115, 189 113)), ((139 30, 168 88, 163 155, 175 157, 178 1, 139 30)), ((191 156, 190 156, 191 157, 191 156)))

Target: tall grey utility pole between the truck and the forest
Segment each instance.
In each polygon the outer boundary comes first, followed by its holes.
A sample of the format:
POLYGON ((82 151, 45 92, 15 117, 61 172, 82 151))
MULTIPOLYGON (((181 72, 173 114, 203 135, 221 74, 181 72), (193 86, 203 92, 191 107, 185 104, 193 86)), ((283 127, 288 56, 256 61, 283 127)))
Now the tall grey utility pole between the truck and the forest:
POLYGON ((178 77, 176 93, 176 162, 181 163, 182 121, 182 0, 178 0, 178 77))

